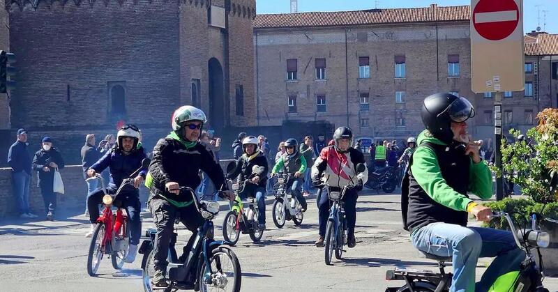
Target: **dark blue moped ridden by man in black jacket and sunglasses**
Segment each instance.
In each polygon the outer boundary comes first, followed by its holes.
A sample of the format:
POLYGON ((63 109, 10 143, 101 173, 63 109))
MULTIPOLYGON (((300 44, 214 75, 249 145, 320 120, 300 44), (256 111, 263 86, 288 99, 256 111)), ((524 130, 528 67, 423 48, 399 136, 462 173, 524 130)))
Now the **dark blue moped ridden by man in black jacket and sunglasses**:
POLYGON ((213 238, 213 218, 219 213, 219 203, 216 199, 218 194, 223 194, 223 191, 217 192, 213 200, 203 201, 197 199, 194 190, 190 187, 180 187, 180 190, 192 194, 196 209, 202 214, 205 222, 197 229, 193 246, 180 257, 177 256, 175 248, 178 233, 174 231, 167 257, 169 261, 167 287, 156 287, 151 284, 155 273, 153 257, 157 229, 151 228, 146 231, 147 239, 143 241, 139 249, 140 254, 144 254, 144 259, 142 259, 144 291, 170 292, 188 289, 204 292, 228 291, 225 289, 232 287, 231 291, 239 292, 242 280, 239 259, 224 241, 213 238), (194 279, 193 284, 189 281, 190 279, 194 279))

